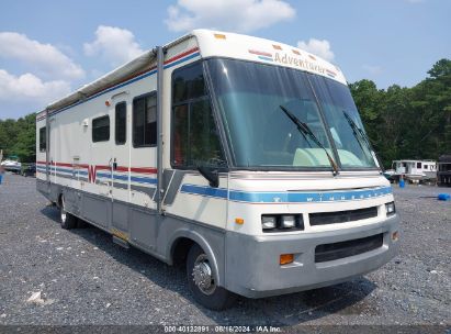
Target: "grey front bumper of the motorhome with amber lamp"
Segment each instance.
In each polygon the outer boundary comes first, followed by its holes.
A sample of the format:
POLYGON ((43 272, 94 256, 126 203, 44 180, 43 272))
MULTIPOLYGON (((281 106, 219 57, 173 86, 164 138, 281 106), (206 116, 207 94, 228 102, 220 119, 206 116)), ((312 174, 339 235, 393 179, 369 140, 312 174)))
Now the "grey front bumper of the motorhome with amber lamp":
POLYGON ((379 223, 327 232, 250 236, 226 235, 225 288, 248 298, 260 298, 330 286, 372 271, 398 250, 392 233, 398 231, 394 215, 379 223), (322 244, 383 234, 382 247, 335 260, 315 263, 322 244), (295 254, 293 264, 281 266, 281 254, 295 254))

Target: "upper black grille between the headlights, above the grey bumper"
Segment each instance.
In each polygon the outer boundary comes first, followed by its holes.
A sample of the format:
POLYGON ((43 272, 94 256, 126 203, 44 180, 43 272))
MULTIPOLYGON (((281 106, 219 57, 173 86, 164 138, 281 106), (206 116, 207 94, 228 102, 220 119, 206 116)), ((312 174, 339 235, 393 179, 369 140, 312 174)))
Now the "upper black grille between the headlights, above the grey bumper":
POLYGON ((311 213, 308 216, 311 226, 347 223, 377 216, 377 207, 347 211, 318 212, 311 213))

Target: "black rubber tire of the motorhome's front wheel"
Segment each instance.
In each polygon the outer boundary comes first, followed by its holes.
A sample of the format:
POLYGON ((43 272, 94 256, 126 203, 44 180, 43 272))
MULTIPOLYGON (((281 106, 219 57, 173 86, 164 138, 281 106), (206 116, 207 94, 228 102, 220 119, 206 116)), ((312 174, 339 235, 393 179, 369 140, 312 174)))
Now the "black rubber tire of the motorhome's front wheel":
POLYGON ((236 294, 216 286, 213 278, 215 272, 213 270, 214 269, 208 266, 208 257, 205 252, 198 244, 192 245, 187 258, 188 287, 190 288, 196 302, 210 310, 221 311, 232 307, 236 300, 236 294), (210 269, 211 274, 210 286, 201 288, 201 286, 195 282, 195 265, 207 266, 206 268, 210 269))

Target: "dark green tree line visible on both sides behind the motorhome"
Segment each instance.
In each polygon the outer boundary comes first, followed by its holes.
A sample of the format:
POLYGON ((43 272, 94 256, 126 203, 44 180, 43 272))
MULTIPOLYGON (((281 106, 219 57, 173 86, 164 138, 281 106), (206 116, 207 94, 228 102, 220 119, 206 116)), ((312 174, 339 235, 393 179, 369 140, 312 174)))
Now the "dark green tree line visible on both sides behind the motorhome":
MULTIPOLYGON (((438 159, 451 154, 451 60, 441 59, 418 85, 377 89, 371 80, 350 84, 367 133, 385 167, 402 158, 438 159)), ((23 163, 36 159, 35 113, 0 120, 0 149, 23 163)))

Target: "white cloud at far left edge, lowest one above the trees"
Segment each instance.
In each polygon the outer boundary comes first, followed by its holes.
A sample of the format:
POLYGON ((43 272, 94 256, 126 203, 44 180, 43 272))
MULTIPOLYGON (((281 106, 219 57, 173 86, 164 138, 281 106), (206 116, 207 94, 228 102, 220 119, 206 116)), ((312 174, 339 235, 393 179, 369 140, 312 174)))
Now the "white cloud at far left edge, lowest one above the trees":
POLYGON ((43 81, 33 74, 14 76, 0 69, 0 100, 36 102, 36 108, 70 92, 70 84, 64 80, 43 81))

